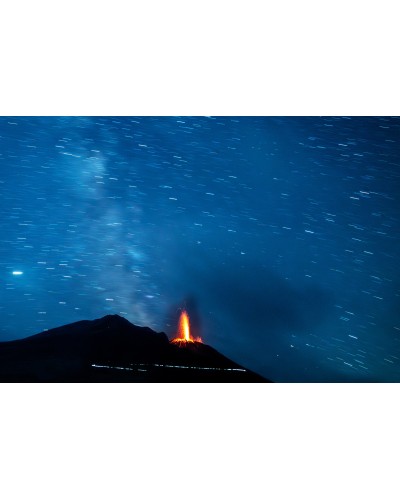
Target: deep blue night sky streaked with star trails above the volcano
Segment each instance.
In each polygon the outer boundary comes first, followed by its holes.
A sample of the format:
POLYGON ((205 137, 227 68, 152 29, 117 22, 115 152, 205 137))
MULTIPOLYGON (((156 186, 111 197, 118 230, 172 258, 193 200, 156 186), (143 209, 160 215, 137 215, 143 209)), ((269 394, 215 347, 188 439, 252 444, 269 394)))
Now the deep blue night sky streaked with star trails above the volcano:
POLYGON ((400 381, 400 119, 1 117, 0 340, 105 314, 400 381))

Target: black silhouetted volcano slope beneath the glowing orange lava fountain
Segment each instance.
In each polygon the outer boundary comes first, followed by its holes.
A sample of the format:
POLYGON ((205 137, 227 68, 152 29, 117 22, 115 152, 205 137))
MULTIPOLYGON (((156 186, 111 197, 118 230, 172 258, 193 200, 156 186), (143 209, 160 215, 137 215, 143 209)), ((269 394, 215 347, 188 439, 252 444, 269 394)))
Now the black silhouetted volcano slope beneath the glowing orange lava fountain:
POLYGON ((107 315, 0 342, 0 382, 270 382, 199 342, 107 315))

